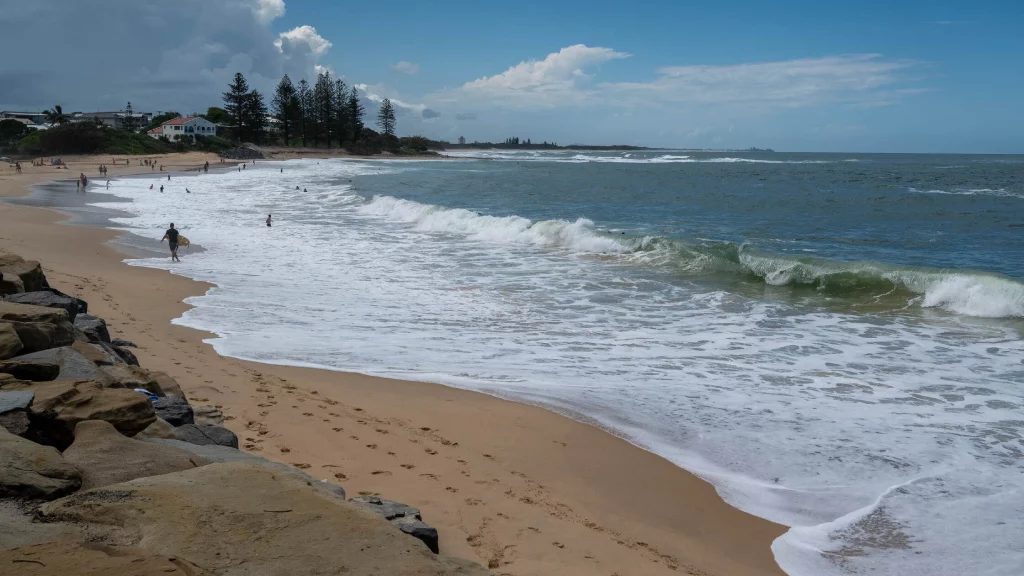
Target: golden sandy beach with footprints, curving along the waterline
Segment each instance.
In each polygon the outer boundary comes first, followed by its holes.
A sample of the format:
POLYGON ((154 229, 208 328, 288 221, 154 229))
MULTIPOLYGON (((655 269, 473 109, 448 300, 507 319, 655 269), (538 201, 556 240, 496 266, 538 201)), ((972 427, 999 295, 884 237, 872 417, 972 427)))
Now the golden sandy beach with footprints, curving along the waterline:
MULTIPOLYGON (((211 155, 169 156, 187 168, 211 155)), ((67 160, 59 175, 69 177, 82 171, 76 163, 103 161, 67 160)), ((29 168, 3 172, 0 198, 56 172, 29 168)), ((112 177, 134 167, 114 168, 112 177)), ((55 287, 89 300, 112 331, 139 344, 144 365, 220 406, 247 451, 309 464, 353 495, 379 490, 422 507, 446 554, 499 574, 781 573, 770 545, 784 527, 732 508, 710 484, 596 427, 439 384, 220 357, 204 342, 212 334, 171 324, 186 297, 211 285, 129 266, 110 244, 120 233, 62 220, 2 205, 0 248, 43 261, 55 287)))

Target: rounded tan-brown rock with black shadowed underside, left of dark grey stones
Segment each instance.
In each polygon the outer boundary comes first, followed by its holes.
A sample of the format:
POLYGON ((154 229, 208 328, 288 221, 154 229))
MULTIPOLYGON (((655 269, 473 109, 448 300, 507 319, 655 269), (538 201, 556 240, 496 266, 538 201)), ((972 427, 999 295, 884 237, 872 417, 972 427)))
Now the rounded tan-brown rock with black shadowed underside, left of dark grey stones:
MULTIPOLYGON (((4 385, 4 389, 10 386, 4 385)), ((32 385, 36 399, 29 408, 29 438, 67 448, 83 420, 105 420, 126 436, 142 431, 157 419, 145 395, 109 388, 91 380, 55 380, 32 385)))

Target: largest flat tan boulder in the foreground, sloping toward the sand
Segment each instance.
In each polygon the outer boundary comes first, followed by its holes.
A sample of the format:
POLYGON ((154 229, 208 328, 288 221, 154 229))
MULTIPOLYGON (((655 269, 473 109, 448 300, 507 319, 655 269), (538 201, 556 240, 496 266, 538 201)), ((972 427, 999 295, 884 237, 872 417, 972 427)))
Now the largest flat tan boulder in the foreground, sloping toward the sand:
POLYGON ((392 524, 316 483, 241 462, 79 492, 42 505, 40 515, 115 528, 96 543, 144 547, 219 576, 487 574, 411 546, 392 524))

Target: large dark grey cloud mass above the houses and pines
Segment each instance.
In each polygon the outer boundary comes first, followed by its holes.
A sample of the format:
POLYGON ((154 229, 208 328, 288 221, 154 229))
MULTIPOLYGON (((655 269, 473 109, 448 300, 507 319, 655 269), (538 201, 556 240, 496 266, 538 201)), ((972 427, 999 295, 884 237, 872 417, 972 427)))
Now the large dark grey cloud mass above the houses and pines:
POLYGON ((284 13, 284 0, 0 0, 0 53, 33 46, 0 60, 0 108, 188 113, 219 106, 236 72, 269 91, 331 47, 312 27, 275 33, 284 13))

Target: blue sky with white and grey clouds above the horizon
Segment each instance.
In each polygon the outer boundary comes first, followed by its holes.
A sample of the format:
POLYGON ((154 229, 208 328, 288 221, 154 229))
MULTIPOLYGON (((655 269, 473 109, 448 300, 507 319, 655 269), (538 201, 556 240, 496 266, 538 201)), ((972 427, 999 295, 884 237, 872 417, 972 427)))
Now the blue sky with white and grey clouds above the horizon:
POLYGON ((399 135, 1021 154, 1022 30, 1020 0, 0 0, 0 110, 188 114, 327 70, 399 135))

